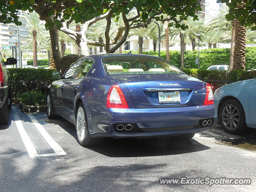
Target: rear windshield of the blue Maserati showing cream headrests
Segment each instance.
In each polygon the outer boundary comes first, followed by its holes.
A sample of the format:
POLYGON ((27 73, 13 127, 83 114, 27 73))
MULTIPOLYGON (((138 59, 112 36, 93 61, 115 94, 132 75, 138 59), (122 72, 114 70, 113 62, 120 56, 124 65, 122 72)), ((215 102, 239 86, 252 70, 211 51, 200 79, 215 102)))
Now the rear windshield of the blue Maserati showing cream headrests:
POLYGON ((184 74, 160 58, 141 56, 108 56, 102 58, 106 74, 184 74))

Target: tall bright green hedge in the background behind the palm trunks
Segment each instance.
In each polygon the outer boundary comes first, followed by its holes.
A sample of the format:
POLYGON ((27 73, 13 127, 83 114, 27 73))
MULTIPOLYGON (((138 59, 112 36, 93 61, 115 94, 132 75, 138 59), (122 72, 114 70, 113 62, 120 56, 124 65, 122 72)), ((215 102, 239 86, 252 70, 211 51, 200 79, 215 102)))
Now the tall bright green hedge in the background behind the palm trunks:
MULTIPOLYGON (((124 51, 127 53, 128 51, 124 51)), ((132 53, 138 53, 132 51, 132 53)), ((143 51, 143 54, 158 56, 158 51, 143 51)), ((160 52, 160 57, 166 59, 166 51, 160 52)), ((185 51, 184 61, 185 68, 198 68, 195 64, 195 59, 198 58, 198 50, 185 51)), ((246 69, 256 68, 256 47, 246 47, 246 69)), ((180 68, 180 51, 170 51, 170 61, 172 64, 180 68)), ((207 69, 211 65, 222 64, 229 65, 230 49, 229 48, 210 48, 200 50, 200 68, 207 69)))

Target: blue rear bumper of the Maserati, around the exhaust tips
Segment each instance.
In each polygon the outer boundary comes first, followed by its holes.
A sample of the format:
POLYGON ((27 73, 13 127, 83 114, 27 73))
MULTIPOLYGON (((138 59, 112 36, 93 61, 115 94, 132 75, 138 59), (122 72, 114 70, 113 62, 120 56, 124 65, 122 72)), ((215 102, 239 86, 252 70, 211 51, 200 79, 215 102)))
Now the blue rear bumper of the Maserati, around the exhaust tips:
POLYGON ((181 108, 117 109, 90 106, 88 125, 92 137, 174 136, 209 130, 214 125, 214 105, 181 108), (202 120, 212 124, 202 126, 202 120), (120 132, 118 124, 132 124, 133 130, 120 132))

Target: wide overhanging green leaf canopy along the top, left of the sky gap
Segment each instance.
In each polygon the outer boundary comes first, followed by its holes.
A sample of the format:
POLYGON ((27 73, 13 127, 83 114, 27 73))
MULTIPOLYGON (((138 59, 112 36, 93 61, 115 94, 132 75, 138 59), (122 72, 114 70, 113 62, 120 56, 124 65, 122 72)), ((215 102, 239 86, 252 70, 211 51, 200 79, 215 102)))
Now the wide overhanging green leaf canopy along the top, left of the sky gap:
POLYGON ((95 16, 112 11, 112 18, 118 19, 120 13, 128 14, 129 10, 136 8, 140 15, 133 20, 134 24, 147 24, 153 18, 163 20, 160 14, 168 14, 170 26, 186 28, 183 24, 178 24, 179 20, 184 20, 187 16, 195 19, 196 11, 201 10, 200 0, 10 0, 0 1, 0 18, 4 23, 18 21, 18 10, 35 10, 40 19, 46 21, 46 28, 61 27, 64 20, 72 18, 76 23, 90 20, 95 16), (176 20, 176 17, 179 20, 176 20))

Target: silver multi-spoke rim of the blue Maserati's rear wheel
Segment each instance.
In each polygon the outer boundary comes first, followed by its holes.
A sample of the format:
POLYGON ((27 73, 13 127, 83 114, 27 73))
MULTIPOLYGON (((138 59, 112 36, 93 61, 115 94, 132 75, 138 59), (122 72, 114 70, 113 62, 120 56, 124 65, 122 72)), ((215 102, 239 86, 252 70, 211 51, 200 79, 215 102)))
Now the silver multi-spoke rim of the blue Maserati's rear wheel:
POLYGON ((77 117, 76 117, 76 132, 78 139, 82 142, 84 140, 85 131, 87 125, 84 115, 84 109, 80 106, 78 108, 77 117))

